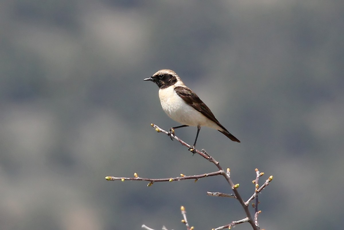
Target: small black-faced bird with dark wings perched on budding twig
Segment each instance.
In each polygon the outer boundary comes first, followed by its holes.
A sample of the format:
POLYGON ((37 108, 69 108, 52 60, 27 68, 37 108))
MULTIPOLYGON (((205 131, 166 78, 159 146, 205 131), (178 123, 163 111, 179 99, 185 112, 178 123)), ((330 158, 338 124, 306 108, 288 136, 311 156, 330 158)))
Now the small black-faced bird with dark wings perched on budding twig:
POLYGON ((162 69, 143 80, 152 81, 158 85, 163 111, 174 121, 183 124, 170 128, 169 136, 171 139, 173 139, 172 135, 174 136, 174 130, 177 128, 197 127, 195 142, 190 146, 189 151, 196 152, 196 142, 202 126, 217 129, 229 139, 240 143, 240 140, 219 123, 209 107, 183 83, 173 70, 162 69))

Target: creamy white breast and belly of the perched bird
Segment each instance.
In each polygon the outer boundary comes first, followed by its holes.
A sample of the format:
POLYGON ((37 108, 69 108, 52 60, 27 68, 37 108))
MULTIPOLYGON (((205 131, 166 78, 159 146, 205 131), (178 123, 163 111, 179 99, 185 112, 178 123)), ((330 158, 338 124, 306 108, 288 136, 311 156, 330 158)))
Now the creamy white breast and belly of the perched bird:
POLYGON ((208 126, 221 129, 213 121, 209 120, 202 113, 188 105, 170 86, 159 90, 159 98, 162 109, 174 121, 189 126, 208 126))

